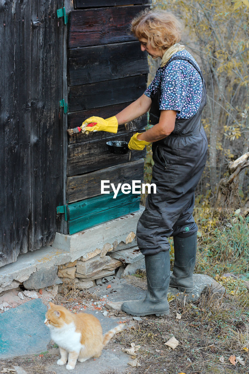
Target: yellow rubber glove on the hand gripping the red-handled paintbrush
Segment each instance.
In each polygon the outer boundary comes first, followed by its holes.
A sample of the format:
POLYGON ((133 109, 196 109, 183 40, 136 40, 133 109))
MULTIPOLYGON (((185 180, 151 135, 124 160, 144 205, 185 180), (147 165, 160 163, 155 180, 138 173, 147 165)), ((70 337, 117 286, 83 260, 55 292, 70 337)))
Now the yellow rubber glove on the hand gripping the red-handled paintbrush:
POLYGON ((118 122, 117 118, 115 116, 104 119, 101 117, 89 117, 87 118, 80 128, 82 129, 82 132, 85 132, 86 134, 89 133, 89 131, 107 131, 107 132, 114 132, 117 133, 117 127, 118 122), (89 123, 97 122, 96 125, 93 126, 87 126, 89 123))

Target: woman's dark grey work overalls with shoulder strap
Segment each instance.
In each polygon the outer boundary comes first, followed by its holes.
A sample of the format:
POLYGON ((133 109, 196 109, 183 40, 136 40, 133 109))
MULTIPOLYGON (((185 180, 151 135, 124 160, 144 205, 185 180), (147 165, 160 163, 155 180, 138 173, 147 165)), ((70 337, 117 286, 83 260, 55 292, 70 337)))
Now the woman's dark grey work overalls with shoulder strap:
MULTIPOLYGON (((202 77, 199 67, 185 56, 173 56, 167 65, 176 59, 188 61, 202 77)), ((202 83, 202 100, 197 113, 188 119, 176 119, 173 132, 152 143, 154 166, 151 183, 156 184, 156 193, 148 194, 136 231, 138 247, 144 255, 169 250, 167 238, 170 236, 187 237, 197 232, 193 218, 194 191, 207 158, 207 138, 201 124, 202 110, 206 105, 203 77, 202 83)), ((152 125, 159 122, 160 96, 159 86, 159 91, 151 97, 152 125)))

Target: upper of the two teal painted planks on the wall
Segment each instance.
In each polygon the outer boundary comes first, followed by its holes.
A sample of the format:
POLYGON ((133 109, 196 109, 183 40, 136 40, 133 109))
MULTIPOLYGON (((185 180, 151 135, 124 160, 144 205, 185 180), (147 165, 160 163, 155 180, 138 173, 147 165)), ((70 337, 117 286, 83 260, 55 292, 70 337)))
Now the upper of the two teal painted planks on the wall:
POLYGON ((132 203, 134 200, 140 199, 140 194, 123 194, 119 192, 116 199, 113 199, 114 193, 102 194, 80 202, 68 204, 67 216, 68 221, 75 220, 80 217, 93 216, 100 211, 118 208, 120 205, 132 203))

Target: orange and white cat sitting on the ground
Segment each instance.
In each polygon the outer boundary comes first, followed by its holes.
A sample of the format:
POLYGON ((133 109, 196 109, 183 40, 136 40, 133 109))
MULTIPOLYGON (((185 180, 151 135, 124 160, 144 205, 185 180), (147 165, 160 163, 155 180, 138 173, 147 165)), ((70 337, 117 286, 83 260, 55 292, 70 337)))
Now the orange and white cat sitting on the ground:
POLYGON ((60 305, 49 303, 44 324, 49 327, 51 338, 58 344, 61 358, 58 365, 67 363, 67 370, 75 367, 76 361, 83 362, 99 357, 102 349, 124 325, 108 331, 104 336, 101 324, 95 316, 87 313, 73 314, 60 305))

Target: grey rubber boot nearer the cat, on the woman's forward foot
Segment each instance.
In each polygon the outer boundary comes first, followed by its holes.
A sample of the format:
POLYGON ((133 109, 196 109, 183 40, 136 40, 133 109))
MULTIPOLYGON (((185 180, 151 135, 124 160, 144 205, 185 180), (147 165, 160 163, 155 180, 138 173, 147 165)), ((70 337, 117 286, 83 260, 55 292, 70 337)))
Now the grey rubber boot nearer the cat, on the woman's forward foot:
POLYGON ((167 291, 170 277, 169 251, 155 255, 145 255, 147 292, 144 300, 126 301, 122 304, 123 312, 132 316, 169 315, 167 291))

